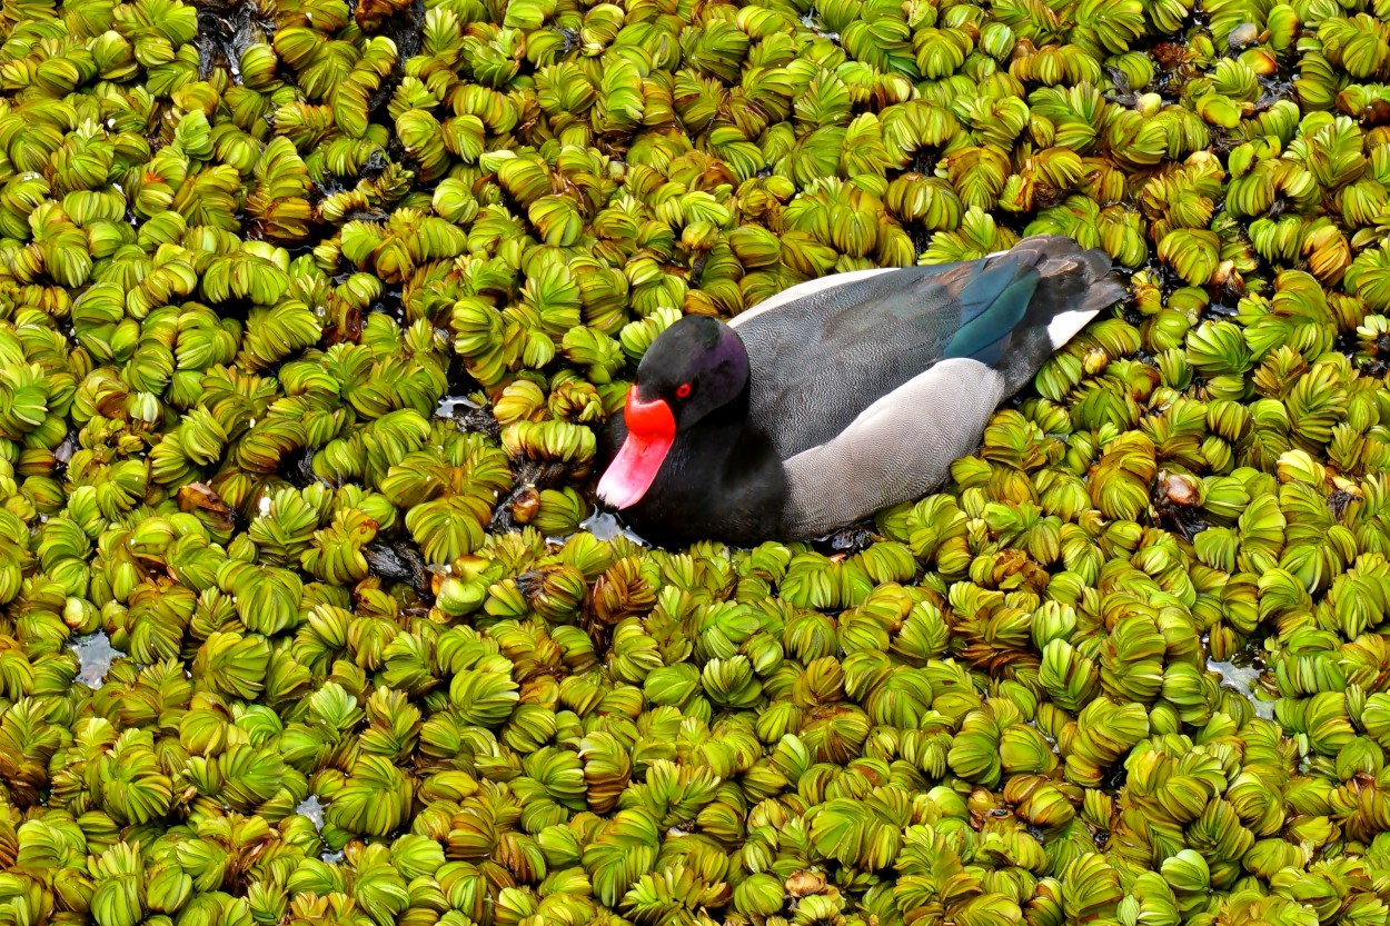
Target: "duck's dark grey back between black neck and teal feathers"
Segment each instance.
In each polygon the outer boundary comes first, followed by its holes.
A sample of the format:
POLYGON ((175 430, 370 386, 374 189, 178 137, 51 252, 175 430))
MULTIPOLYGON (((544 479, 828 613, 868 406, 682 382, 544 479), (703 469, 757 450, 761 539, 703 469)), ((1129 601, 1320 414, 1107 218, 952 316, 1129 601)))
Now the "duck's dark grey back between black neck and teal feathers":
POLYGON ((944 355, 972 264, 835 274, 733 320, 752 367, 749 419, 787 459, 824 444, 944 355))

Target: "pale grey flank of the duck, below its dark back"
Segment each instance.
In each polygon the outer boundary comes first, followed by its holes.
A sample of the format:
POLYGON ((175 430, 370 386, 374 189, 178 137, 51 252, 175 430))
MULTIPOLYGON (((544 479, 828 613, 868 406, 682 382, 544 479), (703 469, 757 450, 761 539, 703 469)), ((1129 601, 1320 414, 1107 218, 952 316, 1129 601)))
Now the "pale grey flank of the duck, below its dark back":
POLYGON ((821 537, 933 492, 980 445, 1006 392, 1001 371, 951 357, 883 396, 831 441, 785 462, 783 533, 821 537))

